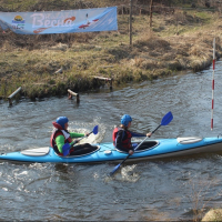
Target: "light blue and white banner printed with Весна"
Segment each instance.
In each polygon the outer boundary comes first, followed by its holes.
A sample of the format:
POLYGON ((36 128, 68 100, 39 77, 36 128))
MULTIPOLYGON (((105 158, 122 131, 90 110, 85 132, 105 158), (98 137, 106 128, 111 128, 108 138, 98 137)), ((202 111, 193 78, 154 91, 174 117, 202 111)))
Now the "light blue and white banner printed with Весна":
POLYGON ((0 12, 0 26, 19 34, 118 30, 117 7, 39 12, 0 12))

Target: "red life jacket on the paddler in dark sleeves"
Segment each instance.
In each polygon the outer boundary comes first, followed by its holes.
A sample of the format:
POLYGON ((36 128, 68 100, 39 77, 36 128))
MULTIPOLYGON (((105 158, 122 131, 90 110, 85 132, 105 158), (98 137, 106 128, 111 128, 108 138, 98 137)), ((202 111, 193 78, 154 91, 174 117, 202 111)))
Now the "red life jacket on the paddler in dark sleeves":
POLYGON ((117 143, 115 140, 117 140, 117 137, 118 137, 118 133, 119 133, 120 130, 123 131, 122 147, 127 148, 127 149, 130 149, 132 147, 132 143, 131 143, 132 134, 131 134, 131 132, 129 130, 124 130, 124 129, 122 129, 120 127, 115 128, 113 130, 113 133, 112 133, 112 141, 113 141, 114 147, 115 147, 115 143, 117 143))

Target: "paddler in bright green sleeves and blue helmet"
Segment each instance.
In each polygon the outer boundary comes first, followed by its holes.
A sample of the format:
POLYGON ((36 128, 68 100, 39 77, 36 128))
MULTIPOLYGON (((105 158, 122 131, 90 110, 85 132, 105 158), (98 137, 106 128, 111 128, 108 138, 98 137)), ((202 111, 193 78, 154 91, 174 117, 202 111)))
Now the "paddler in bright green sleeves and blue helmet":
POLYGON ((50 144, 58 155, 64 155, 63 147, 67 143, 70 145, 69 155, 81 155, 97 150, 97 147, 90 143, 74 145, 79 140, 72 141, 73 138, 88 137, 89 133, 69 132, 68 122, 69 120, 67 117, 59 117, 56 122, 52 122, 54 129, 51 134, 50 144))

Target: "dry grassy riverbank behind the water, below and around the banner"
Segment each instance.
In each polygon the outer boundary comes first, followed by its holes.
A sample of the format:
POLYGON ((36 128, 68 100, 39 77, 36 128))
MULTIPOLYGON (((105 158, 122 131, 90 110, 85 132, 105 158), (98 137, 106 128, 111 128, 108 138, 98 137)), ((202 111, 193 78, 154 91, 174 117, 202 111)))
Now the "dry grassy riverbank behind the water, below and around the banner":
POLYGON ((112 32, 19 36, 0 30, 1 98, 18 87, 22 87, 22 94, 30 99, 65 94, 67 89, 88 91, 104 84, 95 81, 94 75, 112 78, 113 84, 123 84, 176 74, 181 70, 201 71, 212 63, 213 38, 216 38, 216 58, 222 53, 222 19, 215 6, 192 8, 193 4, 180 1, 165 1, 170 6, 158 1, 159 10, 153 10, 150 28, 149 4, 139 8, 140 1, 137 1, 130 46, 127 0, 0 2, 1 11, 118 6, 119 12, 119 28, 112 32), (59 69, 62 72, 57 72, 59 69))

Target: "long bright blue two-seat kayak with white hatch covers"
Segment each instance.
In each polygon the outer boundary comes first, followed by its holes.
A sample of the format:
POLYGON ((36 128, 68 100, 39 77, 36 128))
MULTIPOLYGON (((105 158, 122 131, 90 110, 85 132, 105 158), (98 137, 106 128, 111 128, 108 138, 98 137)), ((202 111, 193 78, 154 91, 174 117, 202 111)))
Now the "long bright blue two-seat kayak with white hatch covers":
MULTIPOLYGON (((138 141, 139 142, 139 141, 138 141)), ((52 162, 52 163, 98 163, 98 162, 120 162, 128 153, 117 150, 111 142, 98 143, 97 150, 83 155, 59 157, 50 147, 29 149, 19 152, 1 153, 0 161, 16 162, 52 162)), ((222 151, 221 138, 176 138, 147 140, 128 159, 130 161, 141 161, 161 158, 184 157, 195 153, 220 152, 222 151)))

